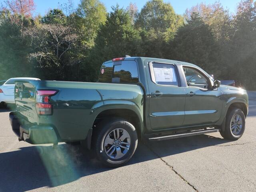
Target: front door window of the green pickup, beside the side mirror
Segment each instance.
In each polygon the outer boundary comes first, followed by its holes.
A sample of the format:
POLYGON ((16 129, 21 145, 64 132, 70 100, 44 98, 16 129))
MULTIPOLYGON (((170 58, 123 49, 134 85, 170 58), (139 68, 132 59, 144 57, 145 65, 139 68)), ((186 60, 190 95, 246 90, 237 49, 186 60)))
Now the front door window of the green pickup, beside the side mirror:
POLYGON ((183 70, 188 86, 204 89, 208 88, 208 80, 201 72, 189 67, 183 67, 183 70))

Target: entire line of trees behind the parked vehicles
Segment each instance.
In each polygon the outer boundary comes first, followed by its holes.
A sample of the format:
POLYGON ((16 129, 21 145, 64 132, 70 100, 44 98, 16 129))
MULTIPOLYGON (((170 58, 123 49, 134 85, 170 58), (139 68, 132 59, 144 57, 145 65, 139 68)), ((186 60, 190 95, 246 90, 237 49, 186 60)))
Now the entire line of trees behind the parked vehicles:
POLYGON ((78 8, 68 0, 36 18, 31 9, 15 10, 12 4, 0 8, 0 80, 96 81, 102 62, 128 54, 191 62, 256 90, 253 0, 241 0, 232 16, 216 2, 198 4, 183 17, 163 0, 149 0, 142 10, 116 6, 109 14, 99 0, 80 0, 78 8))

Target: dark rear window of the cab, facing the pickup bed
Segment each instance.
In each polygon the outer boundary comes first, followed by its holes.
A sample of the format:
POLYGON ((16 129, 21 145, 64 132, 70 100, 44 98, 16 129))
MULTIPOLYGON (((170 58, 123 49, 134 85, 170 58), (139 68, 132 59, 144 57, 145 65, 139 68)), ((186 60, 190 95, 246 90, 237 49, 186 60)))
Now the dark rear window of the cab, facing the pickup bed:
POLYGON ((138 67, 135 61, 118 61, 102 65, 98 82, 103 83, 137 83, 138 67))

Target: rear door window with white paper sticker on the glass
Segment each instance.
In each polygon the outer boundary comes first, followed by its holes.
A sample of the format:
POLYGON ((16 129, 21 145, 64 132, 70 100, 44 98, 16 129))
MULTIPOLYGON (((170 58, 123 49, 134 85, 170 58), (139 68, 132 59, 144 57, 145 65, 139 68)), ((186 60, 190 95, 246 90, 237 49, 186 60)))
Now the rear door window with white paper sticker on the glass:
POLYGON ((178 86, 178 78, 173 64, 150 63, 151 77, 159 85, 178 86))

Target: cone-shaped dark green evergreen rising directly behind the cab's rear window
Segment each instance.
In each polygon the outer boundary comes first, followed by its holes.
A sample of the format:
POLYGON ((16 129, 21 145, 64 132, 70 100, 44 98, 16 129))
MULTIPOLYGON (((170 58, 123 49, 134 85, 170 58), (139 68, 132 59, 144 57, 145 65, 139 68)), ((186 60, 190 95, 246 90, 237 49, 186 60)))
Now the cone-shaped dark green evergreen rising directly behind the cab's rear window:
POLYGON ((95 41, 95 47, 88 60, 94 68, 94 78, 102 62, 112 58, 122 57, 126 54, 139 56, 142 54, 141 38, 134 29, 129 13, 123 8, 112 7, 112 12, 107 16, 105 25, 102 25, 95 41))

